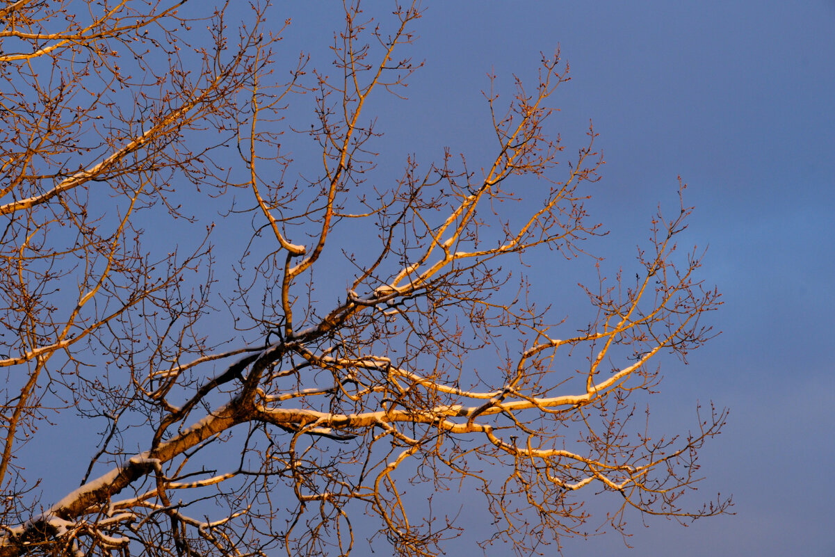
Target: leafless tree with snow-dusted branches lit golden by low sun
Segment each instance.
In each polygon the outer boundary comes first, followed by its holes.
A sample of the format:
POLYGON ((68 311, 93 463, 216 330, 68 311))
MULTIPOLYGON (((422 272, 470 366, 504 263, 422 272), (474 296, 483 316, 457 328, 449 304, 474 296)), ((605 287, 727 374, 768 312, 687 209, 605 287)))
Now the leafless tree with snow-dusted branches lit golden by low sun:
POLYGON ((438 554, 461 506, 412 487, 480 492, 483 543, 519 554, 582 534, 595 489, 622 495, 618 530, 726 510, 680 504, 724 411, 683 438, 631 421, 720 303, 676 251, 683 200, 634 280, 584 289, 590 319, 529 299, 536 258, 600 264, 596 134, 567 165, 549 139, 559 53, 509 104, 485 94, 489 160, 409 156, 391 180, 367 100, 419 67, 419 3, 379 23, 347 3, 333 75, 286 73, 268 5, 184 4, 0 8, 0 554, 348 554, 357 534, 438 554), (63 494, 24 450, 50 423, 100 433, 63 494))

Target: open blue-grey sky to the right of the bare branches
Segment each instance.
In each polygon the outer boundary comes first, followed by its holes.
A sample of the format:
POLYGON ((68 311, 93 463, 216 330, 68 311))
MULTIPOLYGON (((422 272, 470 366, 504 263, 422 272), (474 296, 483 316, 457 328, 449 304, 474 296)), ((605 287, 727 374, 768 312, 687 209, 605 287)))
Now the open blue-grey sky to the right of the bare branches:
MULTIPOLYGON (((328 3, 315 4, 286 8, 290 43, 311 48, 338 25, 328 3)), ((635 549, 609 534, 566 540, 564 553, 835 555, 835 3, 423 5, 412 54, 426 65, 407 103, 377 107, 398 156, 478 153, 486 73, 534 78, 539 52, 559 44, 573 79, 554 99, 554 129, 572 153, 592 119, 605 154, 592 216, 612 233, 599 253, 630 263, 681 175, 696 205, 684 241, 708 246, 702 276, 724 293, 711 315, 721 337, 686 367, 667 362, 653 418, 681 429, 695 423, 696 401, 731 408, 702 453, 701 492, 733 494, 736 515, 689 528, 657 517, 644 528, 634 516, 635 549)), ((546 280, 548 266, 539 271, 546 280)))

